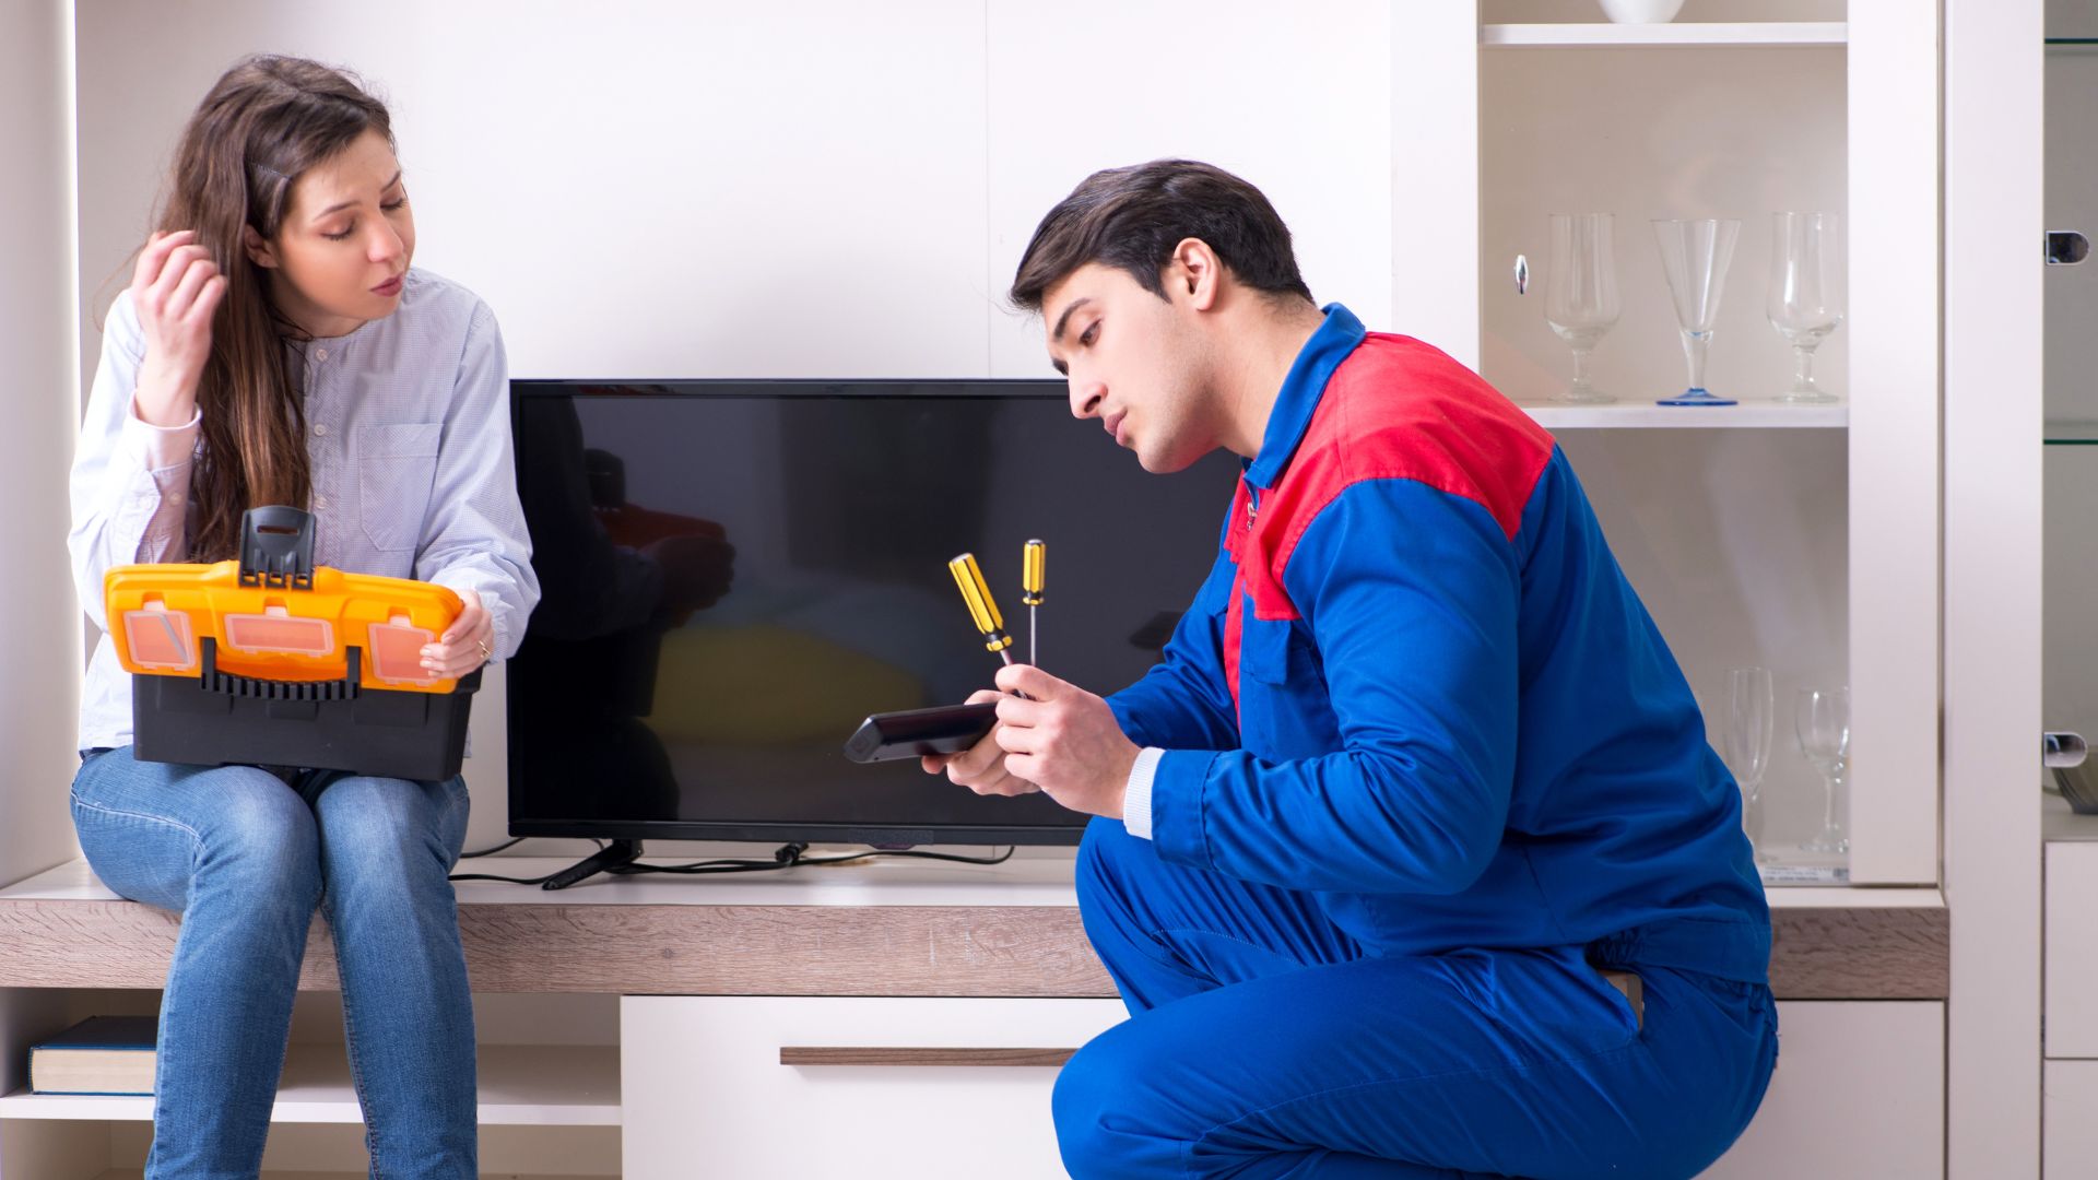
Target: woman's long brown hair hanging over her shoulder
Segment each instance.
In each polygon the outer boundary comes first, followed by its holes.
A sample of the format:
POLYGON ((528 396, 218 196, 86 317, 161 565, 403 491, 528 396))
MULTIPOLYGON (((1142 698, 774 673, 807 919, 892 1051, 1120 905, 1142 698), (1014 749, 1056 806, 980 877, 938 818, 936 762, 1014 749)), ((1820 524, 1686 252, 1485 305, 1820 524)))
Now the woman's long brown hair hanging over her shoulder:
POLYGON ((384 103, 298 57, 241 61, 183 130, 159 229, 197 231, 227 277, 197 382, 204 447, 191 475, 191 561, 235 556, 248 508, 304 508, 313 496, 302 374, 290 357, 300 332, 271 300, 269 271, 248 258, 241 231, 277 241, 292 185, 367 130, 392 143, 384 103))

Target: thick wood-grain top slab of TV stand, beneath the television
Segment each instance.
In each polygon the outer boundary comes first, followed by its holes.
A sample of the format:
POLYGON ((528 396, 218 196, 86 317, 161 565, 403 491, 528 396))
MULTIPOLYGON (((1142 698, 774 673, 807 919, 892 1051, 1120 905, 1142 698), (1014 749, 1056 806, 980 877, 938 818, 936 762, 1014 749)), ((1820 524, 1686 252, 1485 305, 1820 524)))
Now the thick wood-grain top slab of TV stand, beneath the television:
MULTIPOLYGON (((483 861, 524 878, 562 863, 483 861)), ((478 991, 518 993, 1114 997, 1078 922, 1070 850, 994 867, 892 861, 764 876, 772 880, 627 878, 566 892, 462 884, 468 974, 478 991)), ((1769 897, 1779 999, 1947 995, 1939 890, 1769 897)), ((84 863, 61 865, 0 890, 0 987, 157 989, 176 928, 172 913, 115 899, 84 863)), ((340 989, 323 922, 300 987, 340 989)))

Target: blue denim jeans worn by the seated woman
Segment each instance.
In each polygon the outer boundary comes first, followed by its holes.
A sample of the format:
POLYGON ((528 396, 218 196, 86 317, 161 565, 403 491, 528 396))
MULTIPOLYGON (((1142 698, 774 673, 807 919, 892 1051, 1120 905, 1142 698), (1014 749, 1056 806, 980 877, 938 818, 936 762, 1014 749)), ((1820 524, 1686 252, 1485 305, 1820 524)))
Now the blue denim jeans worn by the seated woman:
POLYGON ((115 892, 174 909, 149 1178, 256 1176, 306 928, 336 941, 371 1176, 472 1178, 474 1010, 447 873, 466 783, 90 752, 73 827, 115 892))

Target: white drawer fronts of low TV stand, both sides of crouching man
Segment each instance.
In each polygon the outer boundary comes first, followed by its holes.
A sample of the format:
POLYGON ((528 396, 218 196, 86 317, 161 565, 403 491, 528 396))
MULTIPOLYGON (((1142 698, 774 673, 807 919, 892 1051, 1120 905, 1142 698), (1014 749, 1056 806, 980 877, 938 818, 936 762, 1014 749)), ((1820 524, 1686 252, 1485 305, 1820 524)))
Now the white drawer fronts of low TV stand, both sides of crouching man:
MULTIPOLYGON (((783 1054, 1076 1048, 1120 1018, 1110 999, 627 997, 625 1176, 745 1176, 793 1151, 816 1176, 1057 1178, 1053 1067, 783 1054)), ((1943 1004, 1779 1004, 1779 1023, 1762 1109, 1708 1178, 1943 1176, 1943 1004)))

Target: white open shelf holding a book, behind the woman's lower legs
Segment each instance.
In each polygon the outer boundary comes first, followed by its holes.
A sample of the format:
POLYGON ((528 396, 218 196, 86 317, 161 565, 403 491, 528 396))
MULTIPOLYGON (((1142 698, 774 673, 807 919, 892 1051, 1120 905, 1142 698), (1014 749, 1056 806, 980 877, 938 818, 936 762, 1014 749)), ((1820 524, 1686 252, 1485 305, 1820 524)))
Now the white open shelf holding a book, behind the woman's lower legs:
MULTIPOLYGON (((619 1050, 483 1046, 480 1125, 617 1128, 619 1050)), ((151 1121, 151 1098, 29 1094, 0 1098, 0 1119, 151 1121)), ((342 1046, 292 1046, 273 1123, 363 1123, 342 1046)))

